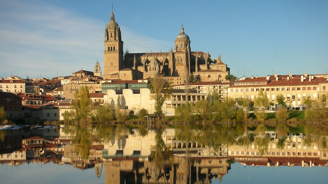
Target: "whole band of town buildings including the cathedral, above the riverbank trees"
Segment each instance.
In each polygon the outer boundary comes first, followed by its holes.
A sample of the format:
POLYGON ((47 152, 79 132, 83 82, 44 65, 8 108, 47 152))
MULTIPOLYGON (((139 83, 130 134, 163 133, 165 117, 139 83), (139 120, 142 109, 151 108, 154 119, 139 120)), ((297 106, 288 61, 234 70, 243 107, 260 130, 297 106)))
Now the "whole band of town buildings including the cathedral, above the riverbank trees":
POLYGON ((146 109, 153 114, 155 100, 151 98, 153 92, 148 86, 155 75, 161 75, 173 88, 161 107, 165 115, 174 115, 175 108, 181 104, 196 104, 214 93, 219 99, 253 101, 259 91, 267 94, 271 104, 269 110, 277 109, 278 95, 284 96, 289 108, 302 110, 307 108, 306 99, 317 101, 328 90, 328 75, 320 73, 231 79, 230 68, 222 62, 220 55, 215 60, 208 52, 191 51, 190 38, 182 25, 174 49, 169 52, 124 52, 113 8, 105 28, 104 48, 103 74, 97 61, 94 68, 88 69, 91 71, 79 70, 52 79, 0 78, 0 106, 8 114, 8 119, 63 120, 64 112, 72 108, 75 91, 83 86, 89 90, 90 100, 95 105, 119 104, 128 112, 137 114, 146 109), (190 80, 191 76, 198 79, 190 80))

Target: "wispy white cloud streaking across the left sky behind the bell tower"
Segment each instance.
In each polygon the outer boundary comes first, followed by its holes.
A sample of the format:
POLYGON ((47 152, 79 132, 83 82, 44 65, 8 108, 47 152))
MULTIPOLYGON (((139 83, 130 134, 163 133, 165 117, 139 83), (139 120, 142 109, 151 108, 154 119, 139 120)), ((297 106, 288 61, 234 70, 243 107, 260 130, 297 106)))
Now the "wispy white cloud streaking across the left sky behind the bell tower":
MULTIPOLYGON (((1 7, 0 77, 67 76, 81 68, 93 71, 96 60, 103 65, 103 21, 35 1, 5 1, 1 7)), ((174 46, 129 28, 121 31, 130 52, 165 52, 174 46)))

